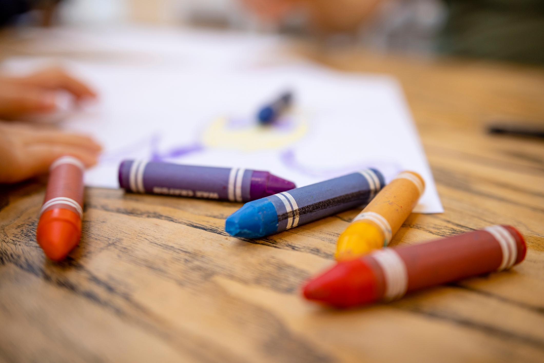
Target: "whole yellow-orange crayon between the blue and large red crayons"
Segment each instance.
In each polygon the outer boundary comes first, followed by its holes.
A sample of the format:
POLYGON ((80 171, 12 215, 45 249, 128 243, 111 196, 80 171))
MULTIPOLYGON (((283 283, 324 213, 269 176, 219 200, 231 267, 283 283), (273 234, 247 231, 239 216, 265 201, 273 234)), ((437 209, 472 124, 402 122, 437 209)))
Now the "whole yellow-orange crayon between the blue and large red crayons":
POLYGON ((402 171, 351 221, 338 237, 336 259, 349 260, 385 247, 416 206, 425 182, 402 171))

